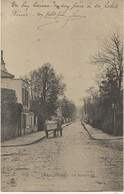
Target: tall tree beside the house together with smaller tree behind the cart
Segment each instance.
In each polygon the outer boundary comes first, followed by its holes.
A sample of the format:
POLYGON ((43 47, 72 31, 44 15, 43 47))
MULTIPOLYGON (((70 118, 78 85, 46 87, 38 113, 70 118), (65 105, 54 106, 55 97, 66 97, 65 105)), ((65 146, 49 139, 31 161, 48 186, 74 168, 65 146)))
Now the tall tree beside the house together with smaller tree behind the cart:
POLYGON ((43 130, 45 120, 57 116, 58 109, 64 120, 73 119, 75 105, 65 97, 60 100, 66 85, 51 64, 44 64, 24 79, 31 86, 31 110, 38 116, 39 130, 43 130))

